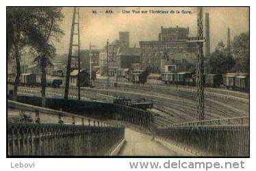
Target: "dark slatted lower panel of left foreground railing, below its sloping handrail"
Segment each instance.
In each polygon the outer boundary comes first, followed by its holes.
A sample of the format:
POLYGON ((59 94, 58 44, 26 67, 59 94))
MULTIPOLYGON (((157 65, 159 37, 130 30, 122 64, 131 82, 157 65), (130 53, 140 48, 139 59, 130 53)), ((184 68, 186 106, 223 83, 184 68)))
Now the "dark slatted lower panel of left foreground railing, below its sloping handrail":
POLYGON ((124 138, 124 127, 8 123, 8 155, 106 155, 124 138))

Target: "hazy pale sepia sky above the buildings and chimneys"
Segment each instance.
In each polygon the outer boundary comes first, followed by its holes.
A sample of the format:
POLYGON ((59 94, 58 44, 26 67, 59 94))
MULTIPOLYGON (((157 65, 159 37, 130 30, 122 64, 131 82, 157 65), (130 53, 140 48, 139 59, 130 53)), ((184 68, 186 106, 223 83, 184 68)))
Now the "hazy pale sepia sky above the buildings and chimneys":
MULTIPOLYGON (((88 49, 90 42, 102 49, 107 38, 112 42, 118 38, 118 31, 130 32, 130 46, 139 47, 140 40, 158 40, 160 27, 190 27, 190 35, 196 36, 196 8, 93 8, 84 7, 80 9, 80 40, 81 49, 88 49), (112 10, 114 14, 106 14, 106 10, 112 10), (122 10, 139 10, 140 14, 123 14, 122 10), (142 14, 146 10, 191 11, 192 14, 142 14), (93 14, 92 11, 97 11, 93 14)), ((248 8, 203 8, 209 12, 211 51, 216 44, 223 40, 227 43, 227 27, 231 29, 231 40, 233 36, 249 29, 248 8)), ((60 23, 65 35, 60 43, 56 44, 57 53, 68 53, 68 44, 71 32, 73 8, 63 8, 64 21, 60 23)), ((204 21, 203 21, 204 22, 204 21)), ((205 23, 203 23, 205 26, 205 23)))

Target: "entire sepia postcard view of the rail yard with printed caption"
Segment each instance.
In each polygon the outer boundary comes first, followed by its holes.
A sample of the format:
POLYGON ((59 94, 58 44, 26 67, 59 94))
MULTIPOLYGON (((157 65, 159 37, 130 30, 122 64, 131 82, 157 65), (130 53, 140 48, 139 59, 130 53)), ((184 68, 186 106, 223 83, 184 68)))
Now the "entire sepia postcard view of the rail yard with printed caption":
POLYGON ((249 18, 7 6, 6 157, 250 157, 249 18))

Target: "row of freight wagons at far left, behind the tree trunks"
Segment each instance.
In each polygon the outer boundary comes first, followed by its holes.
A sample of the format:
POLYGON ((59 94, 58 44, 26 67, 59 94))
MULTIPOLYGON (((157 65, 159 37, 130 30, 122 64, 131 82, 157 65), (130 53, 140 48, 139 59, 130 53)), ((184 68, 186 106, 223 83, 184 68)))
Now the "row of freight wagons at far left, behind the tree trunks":
MULTIPOLYGON (((8 83, 14 84, 15 82, 16 74, 11 73, 8 74, 8 83)), ((21 74, 21 80, 20 80, 21 86, 41 86, 41 77, 36 76, 35 74, 31 73, 22 73, 21 74)), ((60 88, 62 85, 62 79, 59 77, 47 77, 47 86, 53 87, 53 88, 60 88)))

